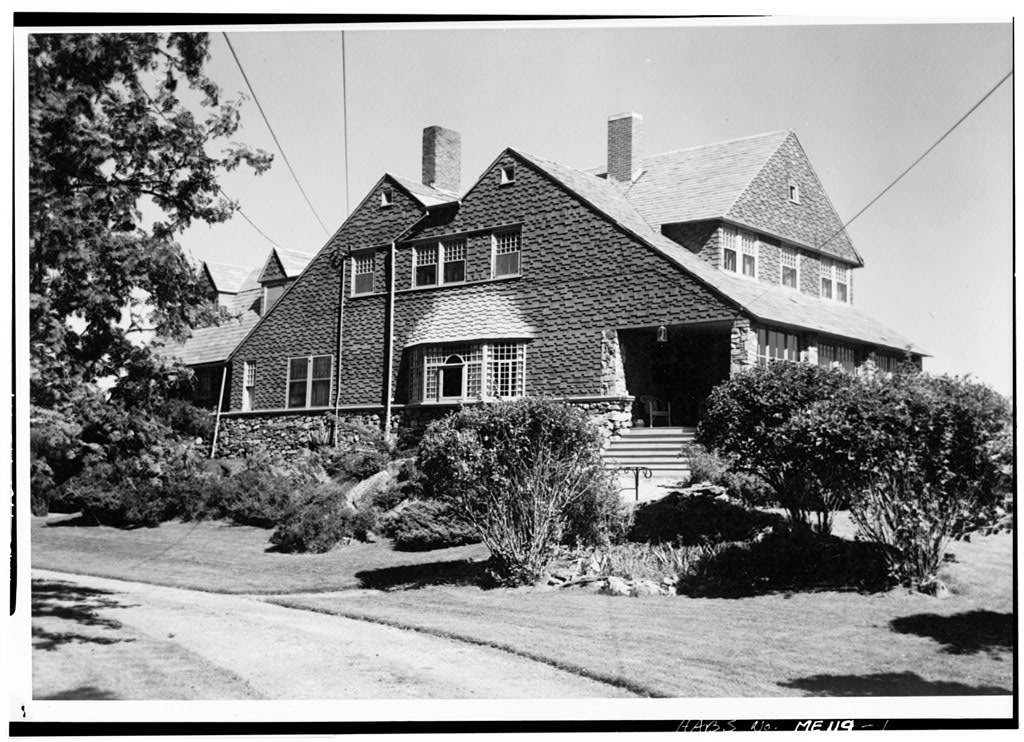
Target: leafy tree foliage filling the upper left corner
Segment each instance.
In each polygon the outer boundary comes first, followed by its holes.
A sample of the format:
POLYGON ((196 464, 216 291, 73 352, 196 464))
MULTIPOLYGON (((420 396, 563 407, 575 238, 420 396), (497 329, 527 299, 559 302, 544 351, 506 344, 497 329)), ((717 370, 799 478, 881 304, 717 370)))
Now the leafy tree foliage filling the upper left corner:
POLYGON ((131 362, 124 312, 170 337, 201 318, 202 289, 175 237, 237 209, 219 171, 270 164, 240 144, 210 154, 238 129, 239 101, 221 98, 207 57, 205 34, 30 37, 34 403, 131 362), (158 216, 146 224, 144 214, 158 216))

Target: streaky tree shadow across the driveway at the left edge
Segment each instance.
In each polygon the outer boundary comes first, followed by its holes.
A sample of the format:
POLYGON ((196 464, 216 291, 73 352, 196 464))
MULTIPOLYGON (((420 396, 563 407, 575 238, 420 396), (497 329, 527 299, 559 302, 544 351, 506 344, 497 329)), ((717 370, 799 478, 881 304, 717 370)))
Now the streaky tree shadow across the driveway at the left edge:
MULTIPOLYGON (((89 626, 103 630, 117 631, 121 622, 113 618, 100 616, 98 611, 104 608, 130 608, 131 605, 115 600, 111 591, 63 582, 61 580, 35 579, 32 581, 32 617, 51 618, 67 621, 76 626, 89 626)), ((37 623, 32 626, 33 648, 43 651, 57 649, 72 642, 87 644, 116 644, 118 642, 134 642, 134 639, 123 637, 104 637, 96 634, 82 634, 74 630, 47 630, 37 623)))

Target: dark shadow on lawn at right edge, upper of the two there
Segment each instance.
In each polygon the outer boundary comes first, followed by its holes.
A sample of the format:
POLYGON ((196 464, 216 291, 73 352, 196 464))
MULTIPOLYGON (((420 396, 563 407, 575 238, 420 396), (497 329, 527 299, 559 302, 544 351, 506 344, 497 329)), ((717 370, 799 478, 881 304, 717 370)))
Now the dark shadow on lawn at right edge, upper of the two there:
POLYGON ((898 634, 934 639, 946 654, 994 654, 1013 649, 1017 622, 1012 613, 977 610, 951 616, 915 613, 894 618, 889 626, 898 634))

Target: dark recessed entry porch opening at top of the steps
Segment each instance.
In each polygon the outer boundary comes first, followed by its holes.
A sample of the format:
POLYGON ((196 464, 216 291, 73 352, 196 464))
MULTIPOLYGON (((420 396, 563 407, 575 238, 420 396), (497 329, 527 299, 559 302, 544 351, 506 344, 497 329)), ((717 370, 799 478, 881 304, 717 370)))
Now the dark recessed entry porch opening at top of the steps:
POLYGON ((695 426, 711 390, 729 377, 731 330, 728 321, 617 330, 634 420, 695 426))

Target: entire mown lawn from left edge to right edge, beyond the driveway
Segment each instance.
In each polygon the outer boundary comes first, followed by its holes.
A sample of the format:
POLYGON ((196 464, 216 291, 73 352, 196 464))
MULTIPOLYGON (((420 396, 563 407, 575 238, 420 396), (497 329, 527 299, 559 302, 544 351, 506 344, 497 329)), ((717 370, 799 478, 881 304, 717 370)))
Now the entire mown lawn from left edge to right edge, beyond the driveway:
MULTIPOLYGON (((223 593, 499 647, 652 696, 1009 694, 1013 536, 954 543, 938 600, 907 590, 740 599, 611 598, 464 584, 481 545, 267 552, 269 531, 166 523, 131 531, 33 519, 32 564, 223 593), (454 584, 453 584, 454 583, 454 584), (385 587, 359 590, 354 587, 385 587), (343 591, 328 593, 330 591, 343 591), (284 595, 290 594, 290 595, 284 595)), ((75 521, 72 520, 74 523, 75 521)), ((837 532, 850 534, 844 519, 837 532)))

